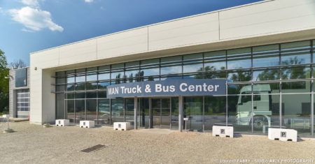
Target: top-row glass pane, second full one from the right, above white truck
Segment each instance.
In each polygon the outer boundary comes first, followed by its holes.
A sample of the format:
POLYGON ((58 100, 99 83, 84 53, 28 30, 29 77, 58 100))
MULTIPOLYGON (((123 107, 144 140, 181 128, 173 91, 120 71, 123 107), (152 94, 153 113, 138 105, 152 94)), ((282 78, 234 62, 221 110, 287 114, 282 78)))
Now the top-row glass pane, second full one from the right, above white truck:
POLYGON ((278 66, 279 64, 279 45, 253 47, 253 67, 278 66))

